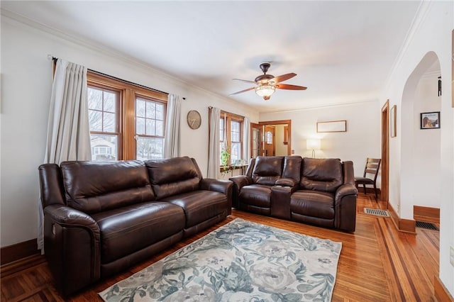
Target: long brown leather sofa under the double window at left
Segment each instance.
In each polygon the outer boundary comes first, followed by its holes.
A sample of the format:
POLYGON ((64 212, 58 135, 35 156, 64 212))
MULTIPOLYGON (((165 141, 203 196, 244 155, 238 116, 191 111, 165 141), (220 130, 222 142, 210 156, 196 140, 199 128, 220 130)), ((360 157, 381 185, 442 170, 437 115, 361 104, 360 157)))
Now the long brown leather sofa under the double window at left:
POLYGON ((45 257, 64 296, 231 214, 232 182, 194 159, 62 162, 39 167, 45 257))

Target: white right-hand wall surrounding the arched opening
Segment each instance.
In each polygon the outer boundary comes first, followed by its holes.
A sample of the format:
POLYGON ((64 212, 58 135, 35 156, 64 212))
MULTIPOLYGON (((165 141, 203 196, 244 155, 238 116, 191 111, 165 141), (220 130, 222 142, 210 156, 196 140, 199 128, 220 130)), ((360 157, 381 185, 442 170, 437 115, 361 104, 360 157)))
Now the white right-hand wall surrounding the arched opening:
MULTIPOLYGON (((450 246, 454 246, 454 110, 452 102, 452 30, 454 28, 454 2, 453 1, 424 1, 421 3, 419 16, 415 19, 414 26, 409 32, 406 44, 402 48, 402 57, 397 63, 389 78, 389 84, 384 89, 380 101, 387 99, 390 106, 397 104, 402 108, 404 87, 407 79, 418 67, 423 58, 434 52, 441 66, 441 77, 443 79, 443 91, 441 96, 441 143, 440 143, 440 279, 451 295, 454 296, 454 267, 449 262, 450 246)), ((413 124, 408 116, 411 111, 398 111, 397 127, 402 129, 402 123, 413 124)), ((380 114, 380 113, 377 113, 380 114)), ((426 130, 430 131, 430 130, 426 130)), ((399 130, 398 130, 399 135, 399 130)), ((414 135, 414 133, 406 133, 414 135)), ((407 169, 402 169, 402 158, 413 156, 413 145, 403 139, 400 135, 397 140, 390 141, 389 150, 389 202, 393 208, 402 209, 399 211, 401 218, 412 219, 412 209, 409 202, 401 200, 402 194, 409 194, 417 184, 411 187, 401 187, 402 178, 412 177, 407 169), (401 152, 401 150, 409 150, 401 152)))

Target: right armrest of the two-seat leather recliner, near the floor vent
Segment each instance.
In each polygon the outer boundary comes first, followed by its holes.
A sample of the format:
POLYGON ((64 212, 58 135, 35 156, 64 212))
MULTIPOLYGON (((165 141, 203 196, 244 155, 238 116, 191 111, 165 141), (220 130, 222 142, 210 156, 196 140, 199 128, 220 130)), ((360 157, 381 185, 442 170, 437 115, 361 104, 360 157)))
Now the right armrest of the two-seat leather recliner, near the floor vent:
POLYGON ((353 184, 343 184, 336 191, 334 199, 334 226, 348 232, 355 231, 356 198, 358 189, 353 184))

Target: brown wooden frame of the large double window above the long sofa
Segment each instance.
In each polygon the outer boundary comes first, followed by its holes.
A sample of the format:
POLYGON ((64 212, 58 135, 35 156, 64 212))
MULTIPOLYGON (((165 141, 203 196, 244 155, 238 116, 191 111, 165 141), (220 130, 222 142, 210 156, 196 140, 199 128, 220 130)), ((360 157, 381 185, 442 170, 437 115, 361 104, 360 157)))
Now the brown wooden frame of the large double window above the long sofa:
MULTIPOLYGON (((136 158, 136 140, 135 140, 135 100, 136 98, 148 99, 164 104, 164 137, 165 123, 167 113, 167 95, 165 92, 150 89, 145 86, 111 77, 106 74, 87 71, 87 86, 109 91, 119 91, 118 100, 118 158, 117 160, 135 160, 136 158)), ((90 133, 99 133, 99 131, 90 133)))

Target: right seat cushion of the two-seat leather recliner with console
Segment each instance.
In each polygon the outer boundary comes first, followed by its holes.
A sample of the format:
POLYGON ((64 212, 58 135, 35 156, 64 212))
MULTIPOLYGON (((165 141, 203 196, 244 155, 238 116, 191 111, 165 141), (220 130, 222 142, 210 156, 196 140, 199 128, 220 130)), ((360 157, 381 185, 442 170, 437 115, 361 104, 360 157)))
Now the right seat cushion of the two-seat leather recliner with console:
POLYGON ((304 216, 333 219, 334 196, 321 191, 296 191, 290 198, 290 210, 304 216))

